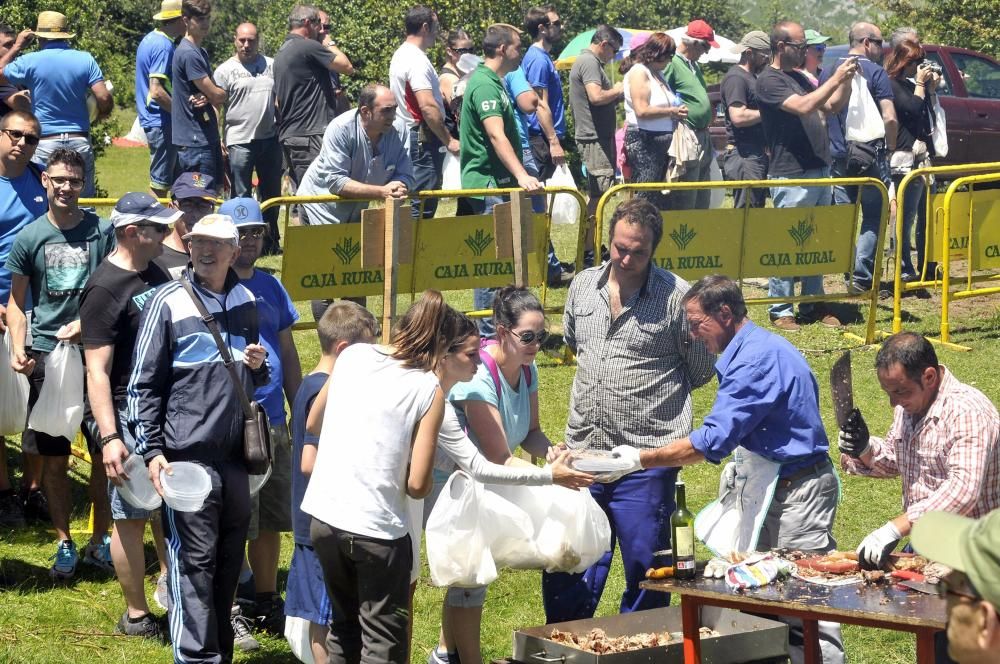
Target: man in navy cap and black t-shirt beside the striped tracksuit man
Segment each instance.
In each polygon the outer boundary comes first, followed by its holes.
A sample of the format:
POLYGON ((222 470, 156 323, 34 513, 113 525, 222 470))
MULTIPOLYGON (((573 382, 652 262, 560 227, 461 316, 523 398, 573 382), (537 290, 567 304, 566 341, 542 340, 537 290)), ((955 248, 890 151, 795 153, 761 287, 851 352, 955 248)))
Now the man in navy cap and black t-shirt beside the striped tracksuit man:
MULTIPOLYGON (((125 423, 125 388, 132 371, 139 316, 156 287, 170 281, 170 276, 152 261, 160 255, 163 238, 181 214, 149 194, 133 192, 122 196, 111 213, 115 251, 97 266, 80 296, 87 394, 101 436, 104 472, 110 482, 108 499, 114 519, 111 559, 125 595, 125 613, 115 625, 115 632, 153 639, 161 634, 159 622, 146 603, 142 539, 146 522, 154 513, 128 503, 118 487, 129 479, 123 464, 135 451, 135 440, 125 423)), ((151 525, 160 559, 156 598, 166 608, 163 532, 157 520, 151 525)))

